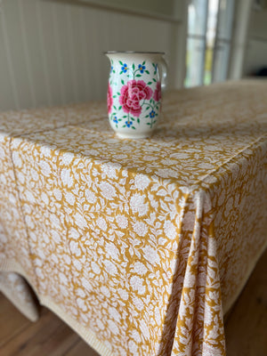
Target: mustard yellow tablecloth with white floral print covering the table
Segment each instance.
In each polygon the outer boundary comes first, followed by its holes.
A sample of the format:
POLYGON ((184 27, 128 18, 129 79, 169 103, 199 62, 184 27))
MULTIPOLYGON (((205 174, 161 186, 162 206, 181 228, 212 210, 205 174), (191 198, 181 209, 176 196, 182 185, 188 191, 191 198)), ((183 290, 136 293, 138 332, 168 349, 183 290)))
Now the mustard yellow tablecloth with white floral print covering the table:
POLYGON ((266 247, 266 81, 166 93, 151 139, 104 102, 0 115, 0 283, 101 355, 225 354, 266 247), (18 273, 18 274, 17 274, 18 273))

